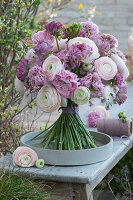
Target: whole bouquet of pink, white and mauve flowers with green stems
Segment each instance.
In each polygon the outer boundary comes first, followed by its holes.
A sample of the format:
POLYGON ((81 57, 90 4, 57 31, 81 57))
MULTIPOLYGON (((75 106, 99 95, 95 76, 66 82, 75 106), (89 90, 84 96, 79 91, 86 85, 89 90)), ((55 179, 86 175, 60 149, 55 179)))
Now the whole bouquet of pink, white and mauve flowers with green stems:
MULTIPOLYGON (((45 112, 62 109, 44 134, 44 148, 94 148, 95 141, 78 115, 78 106, 100 98, 109 109, 127 99, 126 58, 116 38, 98 34, 90 21, 63 26, 52 21, 33 35, 33 48, 17 69, 16 88, 26 90, 45 112)), ((39 135, 40 135, 39 134, 39 135)))

